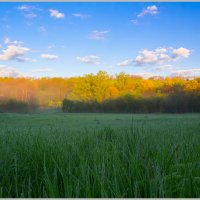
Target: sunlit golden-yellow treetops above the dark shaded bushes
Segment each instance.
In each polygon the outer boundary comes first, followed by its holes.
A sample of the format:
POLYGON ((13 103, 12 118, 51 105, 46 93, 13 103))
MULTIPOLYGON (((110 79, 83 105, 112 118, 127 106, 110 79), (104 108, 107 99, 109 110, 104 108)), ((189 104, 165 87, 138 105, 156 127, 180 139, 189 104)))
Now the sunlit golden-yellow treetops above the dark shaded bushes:
POLYGON ((184 92, 200 95, 200 77, 151 77, 143 79, 104 71, 71 78, 0 78, 0 101, 15 99, 39 107, 60 107, 63 99, 101 103, 124 96, 167 97, 184 92))

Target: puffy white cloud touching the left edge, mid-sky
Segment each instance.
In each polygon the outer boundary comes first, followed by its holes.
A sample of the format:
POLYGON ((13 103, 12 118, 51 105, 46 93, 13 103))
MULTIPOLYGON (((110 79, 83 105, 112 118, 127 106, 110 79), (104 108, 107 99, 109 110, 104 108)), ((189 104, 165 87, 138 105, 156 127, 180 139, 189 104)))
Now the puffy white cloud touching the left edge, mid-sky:
POLYGON ((30 49, 26 47, 9 45, 7 49, 2 50, 2 54, 0 54, 0 60, 20 61, 20 58, 28 51, 30 51, 30 49))

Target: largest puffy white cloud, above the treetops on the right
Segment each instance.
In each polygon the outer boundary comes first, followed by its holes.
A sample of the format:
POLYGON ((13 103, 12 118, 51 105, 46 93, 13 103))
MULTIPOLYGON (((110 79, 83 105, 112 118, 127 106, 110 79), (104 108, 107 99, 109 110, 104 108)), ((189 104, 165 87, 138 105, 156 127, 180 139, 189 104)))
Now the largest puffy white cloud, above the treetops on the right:
POLYGON ((188 58, 191 50, 180 48, 157 48, 155 50, 144 49, 134 58, 126 59, 118 64, 118 66, 129 65, 166 65, 170 62, 177 62, 183 58, 188 58))

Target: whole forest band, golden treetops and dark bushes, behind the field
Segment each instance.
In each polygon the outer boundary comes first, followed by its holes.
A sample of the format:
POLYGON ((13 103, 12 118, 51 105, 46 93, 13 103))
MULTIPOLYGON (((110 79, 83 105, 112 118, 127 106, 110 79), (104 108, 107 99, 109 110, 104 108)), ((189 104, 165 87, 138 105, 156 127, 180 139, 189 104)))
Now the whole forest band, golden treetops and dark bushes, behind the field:
POLYGON ((104 71, 71 78, 0 78, 0 112, 199 112, 200 77, 143 79, 104 71))

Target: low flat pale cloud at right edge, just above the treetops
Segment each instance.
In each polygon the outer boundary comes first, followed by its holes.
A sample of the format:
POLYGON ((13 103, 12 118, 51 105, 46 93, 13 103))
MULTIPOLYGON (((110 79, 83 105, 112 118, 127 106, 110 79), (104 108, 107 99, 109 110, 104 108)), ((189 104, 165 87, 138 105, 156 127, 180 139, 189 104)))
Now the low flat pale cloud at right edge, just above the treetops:
POLYGON ((200 76, 200 68, 186 69, 186 70, 174 70, 171 72, 171 76, 200 76))

